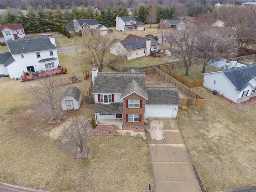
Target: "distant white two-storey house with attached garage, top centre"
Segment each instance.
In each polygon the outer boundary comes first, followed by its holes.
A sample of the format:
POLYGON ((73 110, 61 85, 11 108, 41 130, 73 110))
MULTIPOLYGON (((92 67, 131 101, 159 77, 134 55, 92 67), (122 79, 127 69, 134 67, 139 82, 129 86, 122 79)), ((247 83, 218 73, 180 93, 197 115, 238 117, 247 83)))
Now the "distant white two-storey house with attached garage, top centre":
POLYGON ((116 17, 116 30, 117 31, 143 31, 145 24, 142 21, 136 21, 134 17, 116 17))

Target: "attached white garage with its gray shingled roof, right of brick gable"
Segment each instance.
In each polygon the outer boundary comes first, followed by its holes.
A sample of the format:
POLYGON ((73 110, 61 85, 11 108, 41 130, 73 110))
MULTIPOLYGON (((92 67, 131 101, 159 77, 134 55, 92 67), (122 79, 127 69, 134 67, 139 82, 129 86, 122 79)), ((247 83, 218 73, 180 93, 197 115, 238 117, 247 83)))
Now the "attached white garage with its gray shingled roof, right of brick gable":
POLYGON ((177 87, 148 87, 145 117, 176 117, 180 97, 177 87))

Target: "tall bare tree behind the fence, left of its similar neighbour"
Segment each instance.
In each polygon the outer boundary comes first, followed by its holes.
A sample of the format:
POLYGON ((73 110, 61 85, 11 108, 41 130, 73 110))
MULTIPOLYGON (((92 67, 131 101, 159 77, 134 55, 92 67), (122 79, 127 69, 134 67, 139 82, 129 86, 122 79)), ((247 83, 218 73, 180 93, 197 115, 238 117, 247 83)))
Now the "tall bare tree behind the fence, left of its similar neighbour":
POLYGON ((186 28, 185 30, 176 30, 173 34, 174 46, 178 48, 173 54, 185 64, 186 76, 190 66, 196 59, 195 50, 198 47, 195 28, 186 28))

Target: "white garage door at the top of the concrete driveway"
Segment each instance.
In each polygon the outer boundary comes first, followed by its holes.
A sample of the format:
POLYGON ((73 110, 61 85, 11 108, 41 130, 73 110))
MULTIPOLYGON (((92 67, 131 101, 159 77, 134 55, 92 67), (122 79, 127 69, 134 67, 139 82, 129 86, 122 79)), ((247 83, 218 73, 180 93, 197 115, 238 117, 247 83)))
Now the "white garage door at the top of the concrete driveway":
POLYGON ((174 108, 146 107, 146 117, 172 117, 174 108))

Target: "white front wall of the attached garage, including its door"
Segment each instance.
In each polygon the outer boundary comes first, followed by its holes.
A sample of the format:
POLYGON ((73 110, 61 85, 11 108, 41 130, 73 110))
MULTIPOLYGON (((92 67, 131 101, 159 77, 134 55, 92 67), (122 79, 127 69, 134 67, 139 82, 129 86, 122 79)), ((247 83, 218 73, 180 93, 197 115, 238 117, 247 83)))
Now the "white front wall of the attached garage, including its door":
POLYGON ((174 114, 173 106, 146 105, 145 116, 146 117, 174 117, 176 116, 176 114, 174 114))

